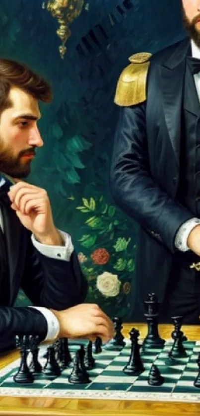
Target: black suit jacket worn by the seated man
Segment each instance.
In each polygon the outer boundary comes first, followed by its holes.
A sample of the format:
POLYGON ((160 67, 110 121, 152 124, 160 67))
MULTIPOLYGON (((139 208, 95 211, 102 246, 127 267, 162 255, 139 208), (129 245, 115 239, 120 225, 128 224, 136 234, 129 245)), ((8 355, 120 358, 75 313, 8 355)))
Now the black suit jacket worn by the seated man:
POLYGON ((41 340, 47 334, 42 313, 29 307, 13 307, 19 287, 33 305, 56 310, 83 302, 87 293, 75 251, 69 262, 42 255, 11 208, 4 218, 4 229, 9 273, 6 281, 0 282, 0 350, 13 346, 15 334, 39 335, 41 340))

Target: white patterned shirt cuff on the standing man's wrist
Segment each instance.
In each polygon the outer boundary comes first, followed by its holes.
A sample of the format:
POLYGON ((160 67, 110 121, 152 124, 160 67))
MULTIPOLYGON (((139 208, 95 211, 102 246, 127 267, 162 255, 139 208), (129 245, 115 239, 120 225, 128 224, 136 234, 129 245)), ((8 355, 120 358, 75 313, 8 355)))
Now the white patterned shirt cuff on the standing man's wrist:
POLYGON ((178 250, 183 251, 183 252, 190 250, 187 245, 189 234, 193 230, 193 228, 195 228, 199 224, 200 224, 199 218, 191 218, 181 225, 181 227, 179 228, 176 234, 176 238, 174 242, 175 247, 178 248, 178 250))

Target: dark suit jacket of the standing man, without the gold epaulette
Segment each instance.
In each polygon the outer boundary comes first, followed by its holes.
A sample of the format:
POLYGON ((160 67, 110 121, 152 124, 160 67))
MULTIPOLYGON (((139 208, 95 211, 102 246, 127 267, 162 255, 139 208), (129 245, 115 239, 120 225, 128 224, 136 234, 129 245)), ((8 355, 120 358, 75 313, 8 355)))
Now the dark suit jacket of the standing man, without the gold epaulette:
POLYGON ((176 250, 176 233, 194 217, 177 201, 184 75, 189 54, 187 38, 153 55, 146 101, 120 108, 111 190, 117 204, 140 224, 136 275, 143 298, 153 291, 162 300, 176 250))

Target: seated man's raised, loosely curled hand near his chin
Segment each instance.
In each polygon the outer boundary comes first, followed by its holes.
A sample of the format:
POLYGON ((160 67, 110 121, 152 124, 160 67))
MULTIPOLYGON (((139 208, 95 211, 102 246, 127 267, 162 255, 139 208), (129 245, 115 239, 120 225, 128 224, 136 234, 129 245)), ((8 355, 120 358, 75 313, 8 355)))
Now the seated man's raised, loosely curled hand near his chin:
POLYGON ((47 192, 26 182, 17 182, 10 187, 8 197, 11 208, 21 223, 43 244, 63 245, 62 236, 54 225, 47 192))

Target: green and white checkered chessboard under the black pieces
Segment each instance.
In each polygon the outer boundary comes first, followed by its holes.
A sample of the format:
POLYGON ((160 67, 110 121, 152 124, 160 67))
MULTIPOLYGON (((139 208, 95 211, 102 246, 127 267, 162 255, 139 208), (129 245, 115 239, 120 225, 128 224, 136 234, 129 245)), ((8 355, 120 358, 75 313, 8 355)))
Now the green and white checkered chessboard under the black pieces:
MULTIPOLYGON (((186 358, 171 363, 168 352, 172 341, 167 341, 164 348, 148 349, 141 352, 144 372, 140 376, 128 376, 123 372, 131 351, 129 340, 126 347, 117 349, 105 346, 100 354, 94 354, 95 368, 89 371, 89 384, 73 385, 68 382, 72 364, 60 377, 48 380, 45 376, 37 377, 33 384, 19 385, 14 383, 13 375, 17 372, 20 359, 13 361, 0 370, 0 396, 87 398, 87 399, 122 399, 153 400, 171 402, 200 403, 200 389, 194 386, 198 375, 197 358, 200 353, 200 341, 185 342, 186 358), (162 386, 153 387, 147 383, 149 369, 156 364, 165 378, 162 386)), ((71 345, 73 356, 79 345, 71 345)), ((40 348, 39 360, 42 365, 46 347, 40 348)))

